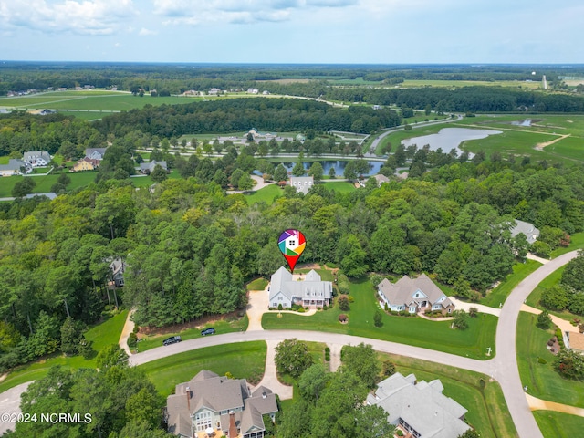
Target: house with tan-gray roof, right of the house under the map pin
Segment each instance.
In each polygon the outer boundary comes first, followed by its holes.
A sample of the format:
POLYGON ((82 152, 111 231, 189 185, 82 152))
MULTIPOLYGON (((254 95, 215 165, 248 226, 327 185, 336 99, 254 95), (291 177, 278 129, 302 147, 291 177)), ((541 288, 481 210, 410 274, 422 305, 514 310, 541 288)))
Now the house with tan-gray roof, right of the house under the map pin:
POLYGON ((402 276, 395 284, 384 278, 377 286, 377 292, 381 306, 395 312, 440 310, 443 315, 454 312, 453 302, 425 274, 418 278, 402 276))

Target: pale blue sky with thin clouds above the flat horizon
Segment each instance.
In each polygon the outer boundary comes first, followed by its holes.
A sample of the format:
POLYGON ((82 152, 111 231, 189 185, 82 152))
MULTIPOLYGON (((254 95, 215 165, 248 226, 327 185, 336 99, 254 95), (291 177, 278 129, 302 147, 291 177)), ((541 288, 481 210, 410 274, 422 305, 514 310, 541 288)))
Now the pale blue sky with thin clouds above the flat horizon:
POLYGON ((584 63, 584 2, 0 0, 0 59, 584 63))

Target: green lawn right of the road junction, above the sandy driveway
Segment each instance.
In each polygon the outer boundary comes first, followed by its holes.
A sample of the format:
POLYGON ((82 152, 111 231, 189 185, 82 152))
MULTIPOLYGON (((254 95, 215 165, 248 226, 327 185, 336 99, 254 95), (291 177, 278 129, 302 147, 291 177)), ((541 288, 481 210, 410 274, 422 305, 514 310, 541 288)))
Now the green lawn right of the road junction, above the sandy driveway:
POLYGON ((527 392, 539 399, 584 408, 584 382, 563 379, 553 369, 555 356, 546 348, 553 330, 537 328, 536 318, 521 312, 517 321, 516 352, 521 384, 527 385, 527 392), (547 363, 538 363, 537 358, 547 363))

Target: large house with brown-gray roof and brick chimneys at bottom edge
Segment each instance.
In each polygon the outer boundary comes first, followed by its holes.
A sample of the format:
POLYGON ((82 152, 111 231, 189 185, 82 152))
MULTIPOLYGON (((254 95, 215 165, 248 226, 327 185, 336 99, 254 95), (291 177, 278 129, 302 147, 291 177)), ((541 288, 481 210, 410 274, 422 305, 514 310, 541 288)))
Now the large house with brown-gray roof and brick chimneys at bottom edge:
POLYGON ((274 421, 276 395, 265 386, 251 391, 245 379, 228 379, 201 370, 176 385, 166 399, 168 432, 183 438, 205 435, 228 438, 263 438, 263 415, 274 421))

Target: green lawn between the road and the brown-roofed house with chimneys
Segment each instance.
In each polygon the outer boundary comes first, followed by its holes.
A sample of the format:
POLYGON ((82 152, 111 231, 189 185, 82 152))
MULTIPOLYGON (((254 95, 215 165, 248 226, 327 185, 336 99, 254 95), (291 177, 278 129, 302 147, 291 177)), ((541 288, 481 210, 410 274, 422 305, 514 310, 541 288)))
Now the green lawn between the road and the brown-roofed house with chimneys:
POLYGON ((167 397, 178 383, 190 381, 200 370, 210 370, 220 376, 231 372, 237 379, 259 381, 264 375, 266 350, 263 340, 238 342, 193 349, 153 360, 139 368, 154 382, 162 396, 167 397))

